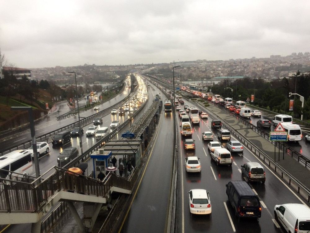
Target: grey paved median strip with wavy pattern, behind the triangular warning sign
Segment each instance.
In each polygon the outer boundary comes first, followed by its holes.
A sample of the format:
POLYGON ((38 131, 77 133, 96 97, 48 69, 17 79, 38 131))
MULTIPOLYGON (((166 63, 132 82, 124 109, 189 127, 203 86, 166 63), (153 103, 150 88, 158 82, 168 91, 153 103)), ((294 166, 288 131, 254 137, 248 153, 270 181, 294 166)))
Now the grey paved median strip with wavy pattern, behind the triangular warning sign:
MULTIPOLYGON (((268 140, 261 137, 259 134, 242 124, 236 118, 226 114, 223 110, 211 105, 206 107, 211 112, 215 113, 219 118, 225 120, 233 129, 237 130, 241 135, 245 136, 253 144, 258 146, 264 153, 266 153, 270 158, 274 158, 274 145, 268 140)), ((289 154, 284 154, 283 150, 280 150, 280 160, 278 156, 279 149, 276 148, 276 162, 281 167, 283 167, 290 175, 294 176, 299 182, 310 189, 310 171, 299 163, 296 159, 292 158, 289 154)))

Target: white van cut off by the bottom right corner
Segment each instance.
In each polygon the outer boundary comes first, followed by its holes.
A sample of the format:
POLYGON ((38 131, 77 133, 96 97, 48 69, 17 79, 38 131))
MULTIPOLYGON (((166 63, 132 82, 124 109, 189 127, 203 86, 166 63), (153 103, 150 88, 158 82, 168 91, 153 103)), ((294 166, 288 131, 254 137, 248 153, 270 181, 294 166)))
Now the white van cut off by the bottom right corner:
POLYGON ((310 209, 304 204, 275 205, 274 218, 287 232, 306 233, 310 231, 310 209))

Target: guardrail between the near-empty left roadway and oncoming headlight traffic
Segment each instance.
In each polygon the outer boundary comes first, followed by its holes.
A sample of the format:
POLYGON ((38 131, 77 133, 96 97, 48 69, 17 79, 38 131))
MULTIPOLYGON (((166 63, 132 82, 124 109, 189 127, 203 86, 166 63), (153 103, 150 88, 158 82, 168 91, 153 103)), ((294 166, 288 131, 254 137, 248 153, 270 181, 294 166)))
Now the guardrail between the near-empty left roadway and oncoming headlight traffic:
MULTIPOLYGON (((137 87, 138 87, 138 86, 137 86, 137 87)), ((121 103, 127 101, 128 98, 130 98, 130 97, 129 97, 129 96, 126 96, 126 98, 122 99, 121 101, 117 102, 116 104, 114 104, 114 105, 112 105, 112 106, 110 106, 110 107, 108 107, 108 108, 106 108, 106 109, 104 109, 104 110, 102 110, 102 111, 100 111, 100 112, 96 112, 95 114, 93 114, 93 115, 91 115, 91 116, 89 116, 89 117, 82 118, 82 119, 80 120, 81 126, 86 126, 86 125, 88 125, 89 122, 92 121, 93 118, 95 118, 95 117, 99 117, 99 116, 103 116, 103 117, 104 117, 104 116, 108 115, 112 109, 117 108, 121 103)), ((78 122, 79 122, 79 121, 75 121, 75 122, 73 122, 73 123, 71 123, 71 124, 69 124, 69 125, 66 125, 66 126, 63 126, 63 127, 59 128, 59 129, 57 129, 57 130, 53 130, 53 131, 51 131, 51 132, 49 132, 49 133, 43 134, 43 135, 41 135, 41 136, 38 136, 38 137, 36 137, 36 141, 37 141, 37 142, 40 142, 40 141, 42 141, 42 140, 49 139, 50 137, 52 137, 52 136, 54 136, 55 134, 57 134, 57 133, 59 133, 59 132, 62 132, 62 131, 64 131, 64 130, 71 130, 72 128, 78 126, 78 122)), ((1 154, 1 156, 2 156, 2 155, 5 154, 5 153, 11 152, 11 150, 24 149, 24 148, 26 148, 26 147, 30 147, 30 146, 31 146, 31 143, 32 143, 32 140, 27 140, 27 141, 25 141, 25 142, 23 142, 23 143, 20 143, 20 144, 18 144, 18 145, 11 146, 11 147, 9 147, 9 148, 6 148, 6 149, 2 150, 2 151, 0 152, 0 154, 1 154)))

